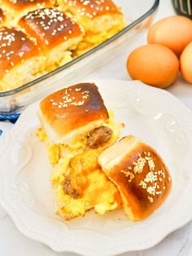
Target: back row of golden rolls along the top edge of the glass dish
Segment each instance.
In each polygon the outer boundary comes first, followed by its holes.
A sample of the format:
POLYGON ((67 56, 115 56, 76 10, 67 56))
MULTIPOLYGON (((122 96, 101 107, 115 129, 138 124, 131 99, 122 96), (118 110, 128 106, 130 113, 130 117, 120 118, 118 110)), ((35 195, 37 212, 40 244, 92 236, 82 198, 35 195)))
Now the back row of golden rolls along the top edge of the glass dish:
POLYGON ((20 17, 29 11, 55 7, 64 11, 85 31, 76 55, 111 38, 124 28, 124 15, 111 0, 0 0, 4 24, 17 26, 20 17))

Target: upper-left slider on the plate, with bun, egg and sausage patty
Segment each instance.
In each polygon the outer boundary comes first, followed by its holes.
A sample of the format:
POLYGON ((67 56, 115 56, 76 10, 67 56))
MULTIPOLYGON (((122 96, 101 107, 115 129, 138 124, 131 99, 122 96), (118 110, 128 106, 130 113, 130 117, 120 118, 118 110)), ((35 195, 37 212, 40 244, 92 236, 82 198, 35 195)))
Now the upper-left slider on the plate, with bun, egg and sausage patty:
POLYGON ((107 148, 122 127, 107 112, 94 83, 69 86, 42 99, 38 117, 42 128, 37 135, 46 142, 53 165, 68 153, 107 148))

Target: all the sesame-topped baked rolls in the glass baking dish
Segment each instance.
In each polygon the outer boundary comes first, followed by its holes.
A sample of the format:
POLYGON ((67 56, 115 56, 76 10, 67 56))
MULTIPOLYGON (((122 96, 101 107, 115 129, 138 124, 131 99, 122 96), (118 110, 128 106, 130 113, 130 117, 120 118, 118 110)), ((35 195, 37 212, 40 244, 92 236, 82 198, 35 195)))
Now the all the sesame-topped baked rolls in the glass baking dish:
POLYGON ((0 4, 0 90, 15 89, 68 63, 124 25, 111 0, 0 0, 0 4))

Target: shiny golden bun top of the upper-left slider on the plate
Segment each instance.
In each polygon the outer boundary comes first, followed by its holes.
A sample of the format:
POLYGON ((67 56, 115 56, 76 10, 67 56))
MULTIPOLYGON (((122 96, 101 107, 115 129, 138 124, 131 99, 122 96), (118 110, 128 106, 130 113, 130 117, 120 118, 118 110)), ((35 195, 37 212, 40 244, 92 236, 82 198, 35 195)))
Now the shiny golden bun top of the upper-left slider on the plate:
POLYGON ((66 135, 91 121, 108 119, 102 96, 94 83, 80 83, 58 90, 42 99, 40 109, 58 135, 66 135))

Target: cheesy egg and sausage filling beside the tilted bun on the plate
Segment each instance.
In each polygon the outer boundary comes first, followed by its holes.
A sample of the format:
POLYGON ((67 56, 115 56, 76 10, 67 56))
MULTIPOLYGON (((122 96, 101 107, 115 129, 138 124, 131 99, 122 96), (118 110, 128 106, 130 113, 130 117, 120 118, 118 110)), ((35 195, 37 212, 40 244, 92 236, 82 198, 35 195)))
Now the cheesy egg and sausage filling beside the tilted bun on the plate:
POLYGON ((50 176, 57 214, 65 220, 121 207, 120 192, 98 165, 100 151, 89 149, 75 157, 60 159, 50 176))

